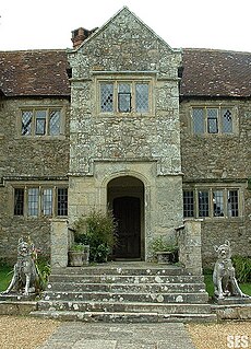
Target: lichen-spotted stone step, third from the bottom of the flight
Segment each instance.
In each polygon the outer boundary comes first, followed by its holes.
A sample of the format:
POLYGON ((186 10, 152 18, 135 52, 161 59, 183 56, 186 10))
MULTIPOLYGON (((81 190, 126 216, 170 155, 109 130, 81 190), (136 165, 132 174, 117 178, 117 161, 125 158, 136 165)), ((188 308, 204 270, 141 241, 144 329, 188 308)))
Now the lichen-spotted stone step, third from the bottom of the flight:
POLYGON ((106 301, 106 302, 159 302, 159 303, 205 303, 208 301, 208 294, 199 293, 133 293, 128 292, 50 292, 44 294, 46 301, 106 301))

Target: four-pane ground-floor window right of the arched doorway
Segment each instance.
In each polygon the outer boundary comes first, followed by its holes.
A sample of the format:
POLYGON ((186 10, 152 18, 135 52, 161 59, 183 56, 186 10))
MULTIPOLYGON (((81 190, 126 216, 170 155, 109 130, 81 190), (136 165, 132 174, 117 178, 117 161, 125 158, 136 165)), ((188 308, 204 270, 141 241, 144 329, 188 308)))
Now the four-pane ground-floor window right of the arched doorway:
POLYGON ((195 188, 183 190, 183 214, 186 218, 239 217, 239 189, 195 188))

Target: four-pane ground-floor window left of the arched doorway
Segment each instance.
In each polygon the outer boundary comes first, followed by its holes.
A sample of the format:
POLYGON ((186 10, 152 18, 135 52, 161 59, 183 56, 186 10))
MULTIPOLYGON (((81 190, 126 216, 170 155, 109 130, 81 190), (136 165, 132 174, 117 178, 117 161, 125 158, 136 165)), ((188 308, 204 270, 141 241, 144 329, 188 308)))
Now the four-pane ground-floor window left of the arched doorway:
POLYGON ((35 185, 14 188, 14 216, 68 216, 68 188, 35 185))

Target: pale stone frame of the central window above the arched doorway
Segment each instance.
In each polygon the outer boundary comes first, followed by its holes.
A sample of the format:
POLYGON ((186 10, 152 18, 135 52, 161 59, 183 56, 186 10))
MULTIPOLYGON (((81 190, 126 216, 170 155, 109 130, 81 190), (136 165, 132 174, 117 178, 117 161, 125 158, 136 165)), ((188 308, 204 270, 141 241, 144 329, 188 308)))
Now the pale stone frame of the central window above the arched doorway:
POLYGON ((96 115, 97 116, 152 116, 154 114, 154 85, 156 81, 156 72, 100 72, 94 71, 94 85, 95 85, 95 101, 96 103, 96 115), (113 110, 112 112, 101 112, 100 110, 100 83, 113 83, 113 95, 115 98, 113 110), (131 102, 131 110, 130 112, 119 112, 118 107, 118 85, 119 83, 131 83, 132 84, 132 102, 131 102), (135 84, 136 83, 147 83, 148 84, 148 110, 140 112, 135 110, 135 84))

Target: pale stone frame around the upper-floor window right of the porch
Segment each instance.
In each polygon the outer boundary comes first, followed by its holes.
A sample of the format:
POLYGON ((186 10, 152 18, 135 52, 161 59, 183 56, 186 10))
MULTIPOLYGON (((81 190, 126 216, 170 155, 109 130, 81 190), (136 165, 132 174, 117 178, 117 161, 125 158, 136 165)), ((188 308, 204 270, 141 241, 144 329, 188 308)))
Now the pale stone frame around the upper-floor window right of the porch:
POLYGON ((232 103, 215 103, 215 102, 208 102, 208 103, 194 103, 190 105, 189 108, 189 119, 190 119, 190 133, 196 137, 231 137, 236 136, 239 131, 239 125, 238 125, 238 107, 232 104, 232 103), (195 108, 203 108, 205 109, 205 115, 204 115, 204 131, 203 132, 194 132, 194 126, 193 126, 193 109, 195 108), (217 109, 218 110, 218 116, 217 116, 217 132, 210 132, 208 131, 208 124, 207 120, 207 109, 217 109), (224 132, 223 131, 223 125, 222 125, 222 110, 223 109, 229 109, 232 113, 232 131, 231 132, 224 132))

